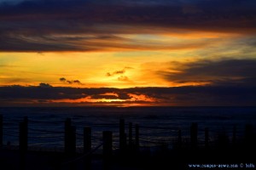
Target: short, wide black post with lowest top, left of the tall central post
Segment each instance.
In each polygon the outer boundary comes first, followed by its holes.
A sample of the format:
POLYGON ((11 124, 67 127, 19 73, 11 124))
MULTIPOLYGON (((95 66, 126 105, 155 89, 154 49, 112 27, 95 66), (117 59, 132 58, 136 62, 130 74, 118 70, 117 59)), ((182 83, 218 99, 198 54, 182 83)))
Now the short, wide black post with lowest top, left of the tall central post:
POLYGON ((112 157, 112 132, 103 131, 103 168, 108 169, 112 157))

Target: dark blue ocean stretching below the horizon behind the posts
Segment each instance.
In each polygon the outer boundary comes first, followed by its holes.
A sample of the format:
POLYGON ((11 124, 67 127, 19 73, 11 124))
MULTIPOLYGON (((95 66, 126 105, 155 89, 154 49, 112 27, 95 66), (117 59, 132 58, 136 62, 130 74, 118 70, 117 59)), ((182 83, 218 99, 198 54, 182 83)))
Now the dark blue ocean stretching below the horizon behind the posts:
POLYGON ((28 118, 28 147, 30 150, 63 150, 64 122, 71 118, 76 127, 77 150, 83 148, 83 129, 91 127, 92 147, 102 143, 102 132, 113 132, 113 149, 119 148, 119 120, 139 126, 141 146, 157 147, 177 139, 181 130, 183 142, 189 141, 191 123, 198 124, 199 144, 204 142, 205 128, 209 128, 210 142, 218 133, 226 133, 230 140, 234 126, 242 137, 246 124, 256 127, 256 107, 2 107, 3 144, 19 144, 19 123, 28 118))

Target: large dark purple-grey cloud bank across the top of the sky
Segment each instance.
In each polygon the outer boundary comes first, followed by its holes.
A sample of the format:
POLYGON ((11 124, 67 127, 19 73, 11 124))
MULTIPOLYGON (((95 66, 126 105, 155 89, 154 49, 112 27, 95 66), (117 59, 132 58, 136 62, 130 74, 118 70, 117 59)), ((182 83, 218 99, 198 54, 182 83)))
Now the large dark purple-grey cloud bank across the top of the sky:
POLYGON ((256 3, 251 0, 0 3, 0 50, 44 52, 148 48, 146 44, 137 44, 138 47, 124 45, 122 42, 129 42, 129 39, 113 35, 179 29, 255 34, 255 8, 256 3), (99 39, 103 42, 96 42, 99 39))

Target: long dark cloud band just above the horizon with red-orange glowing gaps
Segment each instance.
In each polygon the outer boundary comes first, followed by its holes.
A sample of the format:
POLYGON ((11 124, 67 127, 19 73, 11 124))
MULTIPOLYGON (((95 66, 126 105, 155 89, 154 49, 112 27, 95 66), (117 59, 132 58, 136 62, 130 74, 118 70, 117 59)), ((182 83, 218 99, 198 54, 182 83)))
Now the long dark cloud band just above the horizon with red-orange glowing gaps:
MULTIPOLYGON (((45 84, 44 84, 45 85, 45 84)), ((0 105, 15 105, 16 101, 49 101, 53 99, 128 99, 126 103, 148 103, 140 95, 155 99, 155 105, 256 105, 256 86, 187 86, 175 88, 61 88, 40 86, 0 87, 0 105), (137 96, 138 101, 129 99, 137 96)), ((95 102, 97 103, 97 102, 95 102)), ((119 102, 120 103, 120 102, 119 102)), ((125 102, 124 102, 125 103, 125 102)), ((149 102, 150 103, 150 102, 149 102)), ((91 103, 93 104, 93 103, 91 103)), ((26 105, 26 104, 25 104, 26 105)), ((61 104, 60 104, 61 105, 61 104)), ((65 105, 65 104, 62 104, 65 105)), ((72 105, 72 104, 68 104, 72 105)))

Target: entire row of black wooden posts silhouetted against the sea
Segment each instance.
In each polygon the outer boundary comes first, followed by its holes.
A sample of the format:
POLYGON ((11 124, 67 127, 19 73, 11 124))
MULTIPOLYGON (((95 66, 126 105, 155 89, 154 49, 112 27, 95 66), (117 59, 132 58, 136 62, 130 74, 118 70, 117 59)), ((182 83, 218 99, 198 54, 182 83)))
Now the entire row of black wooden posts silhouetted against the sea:
MULTIPOLYGON (((23 121, 20 122, 20 133, 19 133, 19 144, 20 152, 25 152, 27 150, 27 117, 24 117, 23 121)), ((139 148, 139 126, 135 125, 135 140, 133 140, 132 133, 132 123, 129 122, 128 127, 128 143, 127 135, 125 133, 125 120, 119 120, 119 151, 120 154, 125 154, 125 151, 139 148)), ((236 126, 233 128, 232 143, 236 144, 236 126)), ((191 148, 196 148, 198 144, 198 125, 197 123, 192 123, 190 126, 190 145, 191 148)), ((104 131, 102 133, 103 137, 103 150, 104 148, 108 151, 103 151, 106 154, 111 154, 112 151, 112 132, 104 131)), ((245 142, 250 143, 253 139, 253 125, 247 124, 245 127, 245 142)), ((70 118, 65 121, 65 153, 67 155, 74 155, 76 153, 76 127, 72 126, 70 118)), ((177 146, 181 147, 182 132, 178 130, 177 132, 177 146)), ((0 115, 0 146, 3 146, 3 115, 0 115)), ((205 128, 205 147, 209 146, 209 129, 205 128)), ((91 129, 90 127, 84 127, 84 153, 90 152, 91 150, 91 129)))

